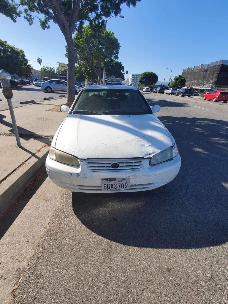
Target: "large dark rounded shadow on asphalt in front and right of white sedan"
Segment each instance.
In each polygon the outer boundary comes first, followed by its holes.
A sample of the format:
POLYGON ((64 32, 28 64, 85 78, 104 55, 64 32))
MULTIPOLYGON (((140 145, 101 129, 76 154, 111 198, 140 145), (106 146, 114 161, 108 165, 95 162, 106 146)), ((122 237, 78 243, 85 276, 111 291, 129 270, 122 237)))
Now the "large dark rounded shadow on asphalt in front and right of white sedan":
POLYGON ((228 240, 228 123, 159 119, 176 139, 182 158, 174 181, 145 192, 73 192, 74 214, 94 233, 127 246, 188 249, 224 244, 228 240))

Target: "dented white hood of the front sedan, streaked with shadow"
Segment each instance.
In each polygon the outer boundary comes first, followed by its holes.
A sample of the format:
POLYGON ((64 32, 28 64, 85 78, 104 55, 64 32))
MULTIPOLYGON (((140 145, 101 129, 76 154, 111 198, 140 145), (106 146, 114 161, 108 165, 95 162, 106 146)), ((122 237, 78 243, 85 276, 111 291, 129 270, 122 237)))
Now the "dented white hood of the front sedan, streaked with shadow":
POLYGON ((53 146, 80 159, 150 157, 172 145, 153 114, 69 114, 57 133, 53 146))

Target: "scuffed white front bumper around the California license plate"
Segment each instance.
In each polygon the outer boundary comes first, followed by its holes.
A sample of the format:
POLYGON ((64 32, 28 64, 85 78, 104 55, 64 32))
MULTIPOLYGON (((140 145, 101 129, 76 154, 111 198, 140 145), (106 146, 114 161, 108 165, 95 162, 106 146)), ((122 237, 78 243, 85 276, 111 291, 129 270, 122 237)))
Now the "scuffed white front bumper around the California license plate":
POLYGON ((149 165, 149 159, 143 159, 140 170, 134 171, 90 171, 85 160, 80 160, 81 167, 76 168, 61 164, 49 158, 46 159, 46 170, 50 179, 61 188, 74 192, 107 193, 117 191, 102 191, 102 178, 130 178, 130 189, 120 192, 135 192, 151 190, 168 184, 178 174, 181 167, 181 157, 154 166, 149 165))

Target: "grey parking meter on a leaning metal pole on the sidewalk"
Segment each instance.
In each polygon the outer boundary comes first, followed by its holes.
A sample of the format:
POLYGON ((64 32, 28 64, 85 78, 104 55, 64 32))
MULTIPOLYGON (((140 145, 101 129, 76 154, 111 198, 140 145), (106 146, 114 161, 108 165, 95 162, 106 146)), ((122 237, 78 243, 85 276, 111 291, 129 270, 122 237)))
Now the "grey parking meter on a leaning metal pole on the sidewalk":
POLYGON ((10 112, 10 116, 12 119, 13 130, 14 130, 14 134, 16 137, 17 146, 21 147, 20 137, 19 137, 19 133, 18 133, 18 129, 17 129, 16 119, 14 116, 13 105, 12 105, 12 100, 11 100, 11 98, 13 97, 13 92, 12 92, 12 88, 11 88, 11 84, 10 84, 10 79, 11 79, 11 75, 8 72, 6 72, 5 70, 0 71, 0 81, 2 84, 2 93, 8 102, 9 112, 10 112))

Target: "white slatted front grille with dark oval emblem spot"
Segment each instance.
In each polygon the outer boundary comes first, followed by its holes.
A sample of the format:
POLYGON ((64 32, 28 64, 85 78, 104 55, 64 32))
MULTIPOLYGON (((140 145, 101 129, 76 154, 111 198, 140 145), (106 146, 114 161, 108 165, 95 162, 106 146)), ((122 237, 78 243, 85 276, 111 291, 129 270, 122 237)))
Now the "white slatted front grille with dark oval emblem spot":
POLYGON ((133 171, 142 168, 143 159, 87 159, 86 164, 90 171, 133 171), (119 164, 119 168, 112 168, 112 164, 119 164))

